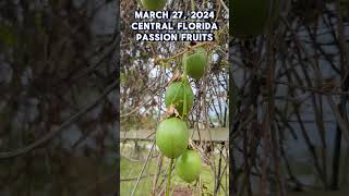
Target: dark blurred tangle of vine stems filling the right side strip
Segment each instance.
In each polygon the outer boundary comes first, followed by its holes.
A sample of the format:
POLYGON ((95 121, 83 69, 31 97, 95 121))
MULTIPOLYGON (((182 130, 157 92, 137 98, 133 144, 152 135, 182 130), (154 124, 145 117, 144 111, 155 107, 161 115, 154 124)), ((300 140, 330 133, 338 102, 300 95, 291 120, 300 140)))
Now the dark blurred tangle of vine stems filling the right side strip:
POLYGON ((231 90, 239 97, 230 126, 230 184, 250 196, 345 194, 348 2, 277 2, 269 33, 230 40, 230 84, 236 82, 231 90))

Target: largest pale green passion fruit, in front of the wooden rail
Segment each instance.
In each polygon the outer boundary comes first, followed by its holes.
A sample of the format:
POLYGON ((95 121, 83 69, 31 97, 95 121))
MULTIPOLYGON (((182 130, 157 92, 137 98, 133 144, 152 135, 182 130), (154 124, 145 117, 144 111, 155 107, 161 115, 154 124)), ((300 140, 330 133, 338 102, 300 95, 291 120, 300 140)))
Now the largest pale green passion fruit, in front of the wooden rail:
POLYGON ((189 131, 184 121, 170 118, 161 121, 156 131, 156 145, 168 158, 177 158, 186 150, 189 131))

